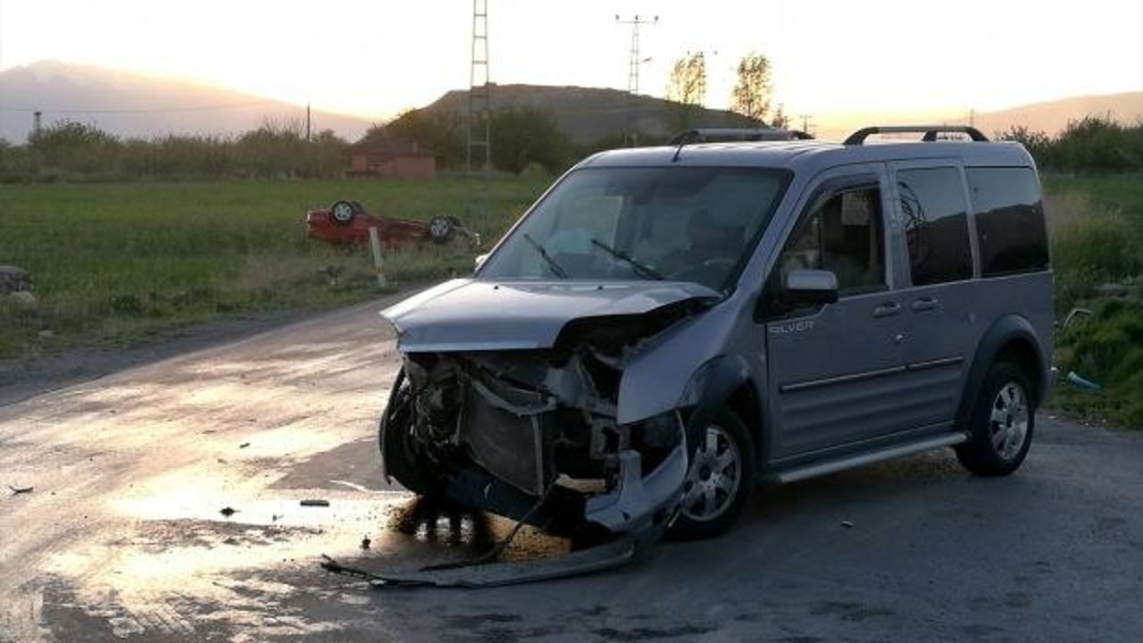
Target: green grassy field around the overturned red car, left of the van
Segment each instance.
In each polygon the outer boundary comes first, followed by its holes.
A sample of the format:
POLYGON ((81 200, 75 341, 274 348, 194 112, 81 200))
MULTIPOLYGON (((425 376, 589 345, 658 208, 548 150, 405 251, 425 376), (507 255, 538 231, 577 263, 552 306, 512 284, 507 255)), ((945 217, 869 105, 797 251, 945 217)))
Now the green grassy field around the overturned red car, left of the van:
MULTIPOLYGON (((491 180, 487 213, 469 223, 495 239, 547 182, 491 180)), ((0 358, 361 301, 378 292, 367 251, 305 238, 305 211, 352 198, 392 216, 463 220, 472 190, 459 177, 5 185, 0 264, 32 273, 38 303, 0 300, 0 358)), ((397 285, 471 267, 443 251, 393 253, 386 263, 397 285)))

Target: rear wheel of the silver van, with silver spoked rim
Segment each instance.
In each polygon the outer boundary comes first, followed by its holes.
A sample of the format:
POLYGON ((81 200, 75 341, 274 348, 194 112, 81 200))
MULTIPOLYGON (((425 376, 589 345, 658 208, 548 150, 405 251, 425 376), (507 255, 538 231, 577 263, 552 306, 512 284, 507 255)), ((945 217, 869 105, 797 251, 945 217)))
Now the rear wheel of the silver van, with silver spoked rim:
POLYGON ((957 459, 966 469, 978 476, 1007 476, 1020 468, 1036 428, 1032 391, 1028 374, 1020 366, 998 362, 989 368, 968 415, 968 442, 956 446, 957 459), (1016 395, 1023 402, 1023 411, 1007 402, 1016 395))

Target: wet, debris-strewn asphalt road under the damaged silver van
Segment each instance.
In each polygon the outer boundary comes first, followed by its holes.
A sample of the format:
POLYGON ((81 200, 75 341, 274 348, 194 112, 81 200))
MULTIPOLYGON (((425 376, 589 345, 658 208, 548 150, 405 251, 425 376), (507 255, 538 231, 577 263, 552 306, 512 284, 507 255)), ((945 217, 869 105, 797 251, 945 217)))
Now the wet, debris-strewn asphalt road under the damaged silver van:
MULTIPOLYGON (((0 498, 0 640, 1143 640, 1143 436, 1046 415, 1013 477, 933 453, 761 490, 729 535, 616 571, 481 590, 330 574, 322 554, 453 559, 506 527, 381 479, 378 308, 0 406, 0 485, 34 487, 0 498)), ((511 556, 566 547, 525 535, 511 556)))

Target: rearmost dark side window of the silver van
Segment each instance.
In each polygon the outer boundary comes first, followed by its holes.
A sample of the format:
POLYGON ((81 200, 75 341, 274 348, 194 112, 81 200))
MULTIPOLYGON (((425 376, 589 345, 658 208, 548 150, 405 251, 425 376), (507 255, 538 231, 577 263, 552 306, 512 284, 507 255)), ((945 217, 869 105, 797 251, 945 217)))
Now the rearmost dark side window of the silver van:
POLYGON ((969 167, 981 273, 985 277, 1044 270, 1048 230, 1036 174, 1030 167, 969 167))

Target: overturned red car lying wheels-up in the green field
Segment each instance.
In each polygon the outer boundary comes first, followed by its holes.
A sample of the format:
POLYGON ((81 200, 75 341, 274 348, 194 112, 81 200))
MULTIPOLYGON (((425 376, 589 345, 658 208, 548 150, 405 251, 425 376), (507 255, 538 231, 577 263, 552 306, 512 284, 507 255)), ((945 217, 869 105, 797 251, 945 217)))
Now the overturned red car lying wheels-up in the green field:
POLYGON ((464 249, 480 246, 480 236, 456 217, 434 216, 427 223, 369 214, 358 201, 335 201, 328 209, 305 213, 306 235, 333 244, 365 244, 376 228, 385 249, 437 244, 464 249))

